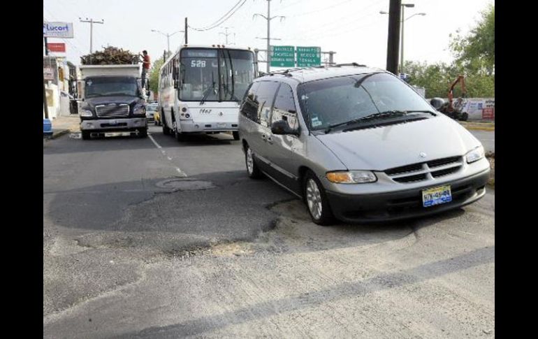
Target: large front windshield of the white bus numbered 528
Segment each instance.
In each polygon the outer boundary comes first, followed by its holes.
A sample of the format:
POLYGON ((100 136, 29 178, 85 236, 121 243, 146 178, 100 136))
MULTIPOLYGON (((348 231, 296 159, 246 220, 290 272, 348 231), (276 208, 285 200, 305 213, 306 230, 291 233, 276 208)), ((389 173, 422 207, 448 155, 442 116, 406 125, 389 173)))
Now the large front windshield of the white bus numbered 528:
POLYGON ((184 48, 180 56, 182 101, 240 101, 254 80, 254 53, 184 48))

